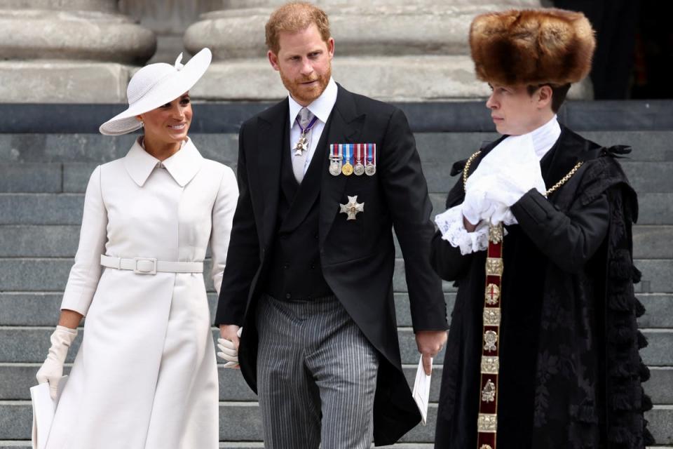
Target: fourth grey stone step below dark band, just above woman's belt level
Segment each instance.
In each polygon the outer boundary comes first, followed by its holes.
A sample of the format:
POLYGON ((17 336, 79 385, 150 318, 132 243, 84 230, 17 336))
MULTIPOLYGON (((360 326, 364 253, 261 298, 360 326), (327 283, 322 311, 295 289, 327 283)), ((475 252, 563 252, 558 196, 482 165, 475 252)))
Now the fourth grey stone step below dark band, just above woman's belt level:
MULTIPOLYGON (((673 258, 673 225, 636 225, 634 257, 673 258)), ((0 257, 74 257, 79 243, 78 225, 0 225, 0 257)), ((395 253, 402 257, 395 239, 395 253)), ((206 255, 209 257, 209 255, 206 255)))

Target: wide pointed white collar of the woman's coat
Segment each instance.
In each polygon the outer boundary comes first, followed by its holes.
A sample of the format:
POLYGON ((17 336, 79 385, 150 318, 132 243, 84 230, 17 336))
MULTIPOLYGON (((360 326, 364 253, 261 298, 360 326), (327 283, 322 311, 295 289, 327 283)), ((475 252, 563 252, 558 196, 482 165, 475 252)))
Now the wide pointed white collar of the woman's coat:
POLYGON ((180 187, 187 185, 198 173, 203 163, 203 156, 193 145, 190 138, 182 147, 164 161, 146 152, 140 145, 140 138, 136 139, 129 152, 124 157, 124 167, 137 185, 142 187, 147 178, 158 166, 163 166, 180 187))

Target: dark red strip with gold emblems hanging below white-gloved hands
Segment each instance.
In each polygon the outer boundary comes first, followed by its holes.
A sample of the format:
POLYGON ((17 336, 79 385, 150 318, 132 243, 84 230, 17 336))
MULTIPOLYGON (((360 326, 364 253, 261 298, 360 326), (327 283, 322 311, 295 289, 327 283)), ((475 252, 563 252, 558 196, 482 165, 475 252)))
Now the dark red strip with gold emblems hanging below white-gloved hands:
POLYGON ((503 225, 489 227, 484 292, 481 381, 477 449, 496 449, 498 430, 498 371, 500 369, 503 225))

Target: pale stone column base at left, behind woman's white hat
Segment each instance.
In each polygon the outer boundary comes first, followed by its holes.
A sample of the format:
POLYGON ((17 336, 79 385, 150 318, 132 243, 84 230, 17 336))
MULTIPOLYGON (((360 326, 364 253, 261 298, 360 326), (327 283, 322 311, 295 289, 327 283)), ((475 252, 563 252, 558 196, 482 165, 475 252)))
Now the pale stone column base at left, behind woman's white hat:
POLYGON ((133 66, 155 48, 117 0, 4 0, 0 101, 125 102, 133 66))

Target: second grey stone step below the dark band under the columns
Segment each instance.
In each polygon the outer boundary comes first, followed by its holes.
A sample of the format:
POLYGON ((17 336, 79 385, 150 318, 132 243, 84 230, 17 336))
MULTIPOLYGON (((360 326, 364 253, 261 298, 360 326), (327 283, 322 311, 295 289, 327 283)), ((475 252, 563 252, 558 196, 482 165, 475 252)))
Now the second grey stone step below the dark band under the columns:
MULTIPOLYGON (((453 161, 423 160, 430 192, 448 192, 458 177, 449 172, 453 161)), ((83 193, 97 163, 0 163, 0 192, 83 193)), ((673 192, 673 162, 623 161, 623 168, 639 193, 673 192)), ((233 167, 235 168, 235 167, 233 167)))

